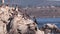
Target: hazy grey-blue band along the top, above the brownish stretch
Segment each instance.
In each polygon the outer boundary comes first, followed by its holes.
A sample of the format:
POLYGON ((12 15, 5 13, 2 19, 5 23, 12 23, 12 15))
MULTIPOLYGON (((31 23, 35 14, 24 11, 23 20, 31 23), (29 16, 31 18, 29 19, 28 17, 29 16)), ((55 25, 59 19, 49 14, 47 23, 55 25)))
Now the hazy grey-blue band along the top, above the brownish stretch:
POLYGON ((47 1, 47 0, 5 0, 5 3, 17 4, 22 7, 47 6, 47 5, 60 6, 60 1, 47 1))

